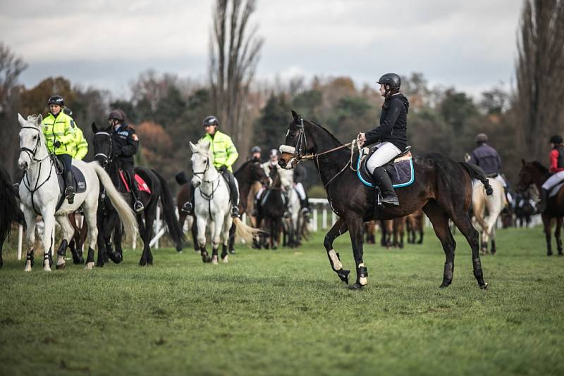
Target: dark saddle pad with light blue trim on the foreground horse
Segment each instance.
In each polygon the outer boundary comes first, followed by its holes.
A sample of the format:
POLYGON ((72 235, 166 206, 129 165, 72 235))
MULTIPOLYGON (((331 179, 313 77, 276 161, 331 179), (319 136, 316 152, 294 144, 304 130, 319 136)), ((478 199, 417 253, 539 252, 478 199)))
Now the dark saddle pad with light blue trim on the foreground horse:
MULTIPOLYGON (((358 155, 357 161, 357 177, 362 184, 368 187, 374 187, 372 174, 369 173, 366 166, 370 156, 378 149, 376 146, 372 148, 362 148, 358 155)), ((411 146, 407 146, 405 150, 391 161, 384 165, 384 170, 390 176, 393 188, 407 187, 415 182, 415 170, 413 168, 413 158, 411 154, 411 146)))

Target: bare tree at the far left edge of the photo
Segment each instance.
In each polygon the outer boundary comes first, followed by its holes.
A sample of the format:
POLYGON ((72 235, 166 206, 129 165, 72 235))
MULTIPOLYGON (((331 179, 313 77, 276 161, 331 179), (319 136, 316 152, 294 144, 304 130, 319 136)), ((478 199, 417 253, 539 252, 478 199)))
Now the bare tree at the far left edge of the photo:
MULTIPOLYGON (((0 161, 12 175, 16 171, 18 151, 18 103, 20 87, 18 77, 27 68, 21 58, 0 42, 0 161)), ((27 115, 27 114, 24 114, 27 115)))

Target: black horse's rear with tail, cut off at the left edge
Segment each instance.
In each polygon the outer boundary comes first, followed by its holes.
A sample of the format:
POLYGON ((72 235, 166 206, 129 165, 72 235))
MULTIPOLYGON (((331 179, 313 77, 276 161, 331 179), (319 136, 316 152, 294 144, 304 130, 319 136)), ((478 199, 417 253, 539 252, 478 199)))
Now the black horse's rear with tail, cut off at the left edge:
POLYGON ((13 222, 25 225, 23 212, 20 210, 16 190, 6 168, 0 165, 0 268, 4 265, 2 246, 10 234, 13 222))

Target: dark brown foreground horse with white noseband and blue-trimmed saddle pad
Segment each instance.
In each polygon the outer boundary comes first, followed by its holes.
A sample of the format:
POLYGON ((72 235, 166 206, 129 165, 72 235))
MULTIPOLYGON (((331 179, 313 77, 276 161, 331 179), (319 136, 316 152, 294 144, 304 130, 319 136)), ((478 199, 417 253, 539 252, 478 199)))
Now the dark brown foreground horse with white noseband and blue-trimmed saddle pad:
MULTIPOLYGON (((457 163, 441 153, 425 154, 415 158, 415 182, 397 191, 400 206, 376 206, 374 189, 364 186, 350 168, 350 150, 345 149, 341 142, 321 125, 303 120, 295 111, 292 111, 292 115, 293 120, 288 126, 285 145, 281 146, 279 163, 282 167, 289 164, 292 168, 295 163, 303 160, 314 161, 326 187, 331 208, 339 216, 326 234, 324 246, 331 267, 343 282, 348 284, 349 270, 343 269, 339 255, 333 249, 333 240, 336 237, 350 232, 357 268, 357 280, 350 288, 360 289, 367 284, 368 275, 362 260, 362 223, 372 219, 398 218, 423 208, 445 252, 446 262, 441 287, 448 287, 453 280, 456 243, 448 227, 450 218, 472 248, 474 277, 479 287, 487 288, 479 256, 478 232, 472 227, 468 216, 468 207, 472 200, 472 179, 482 181, 491 194, 491 187, 481 169, 467 163, 457 163), (334 150, 331 151, 332 149, 334 150)), ((353 161, 356 161, 357 156, 358 153, 355 153, 353 161)))

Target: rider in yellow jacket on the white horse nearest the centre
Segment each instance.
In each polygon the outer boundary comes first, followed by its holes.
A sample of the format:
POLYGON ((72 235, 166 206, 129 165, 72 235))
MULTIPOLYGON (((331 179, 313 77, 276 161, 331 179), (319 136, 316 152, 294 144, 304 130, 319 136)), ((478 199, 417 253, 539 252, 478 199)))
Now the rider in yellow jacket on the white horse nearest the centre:
MULTIPOLYGON (((235 144, 227 134, 219 132, 217 127, 219 121, 213 115, 204 119, 204 129, 206 134, 200 139, 201 141, 209 142, 210 149, 214 156, 213 165, 219 170, 223 178, 229 184, 229 191, 231 194, 231 216, 239 218, 239 187, 235 176, 233 176, 233 163, 237 161, 239 153, 235 148, 235 144)), ((194 192, 195 187, 190 185, 190 201, 186 202, 183 206, 183 211, 188 215, 194 215, 194 192)))

